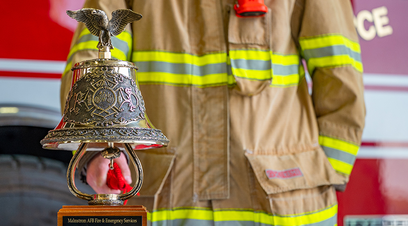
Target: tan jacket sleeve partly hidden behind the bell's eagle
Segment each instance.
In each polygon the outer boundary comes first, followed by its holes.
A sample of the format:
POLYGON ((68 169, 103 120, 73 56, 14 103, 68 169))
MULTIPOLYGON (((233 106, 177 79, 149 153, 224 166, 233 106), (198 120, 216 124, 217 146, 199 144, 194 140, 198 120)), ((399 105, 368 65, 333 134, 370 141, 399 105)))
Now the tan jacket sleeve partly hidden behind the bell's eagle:
MULTIPOLYGON (((111 19, 112 12, 119 9, 126 9, 125 1, 121 0, 87 0, 83 8, 93 8, 103 10, 111 19)), ((74 20, 74 19, 70 19, 74 20)), ((111 50, 112 58, 119 60, 129 60, 132 49, 132 32, 130 24, 118 36, 111 37, 113 48, 111 50)), ((78 62, 98 58, 98 37, 92 35, 85 27, 84 23, 78 23, 71 42, 70 53, 66 59, 66 67, 61 78, 61 110, 63 112, 66 97, 71 89, 72 71, 71 68, 78 62)))

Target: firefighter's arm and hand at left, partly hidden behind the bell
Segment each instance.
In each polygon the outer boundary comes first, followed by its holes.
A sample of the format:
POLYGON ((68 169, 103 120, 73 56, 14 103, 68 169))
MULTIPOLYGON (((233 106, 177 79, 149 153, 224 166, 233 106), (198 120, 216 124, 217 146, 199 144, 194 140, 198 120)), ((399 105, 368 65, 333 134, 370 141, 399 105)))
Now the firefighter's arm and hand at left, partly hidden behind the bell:
MULTIPOLYGON (((112 12, 118 9, 126 9, 125 1, 110 0, 87 0, 83 8, 93 8, 103 10, 111 19, 112 12)), ((68 16, 66 16, 68 17, 68 16)), ((73 19, 70 19, 73 20, 73 19)), ((132 49, 131 27, 127 25, 125 31, 116 37, 111 37, 114 49, 111 50, 112 58, 119 60, 130 60, 132 49)), ((68 92, 72 84, 71 68, 77 63, 84 60, 98 58, 98 37, 90 34, 85 24, 78 23, 71 43, 71 49, 67 56, 66 68, 61 78, 61 111, 65 107, 68 92)), ((109 162, 109 161, 108 161, 109 162)), ((130 170, 127 165, 125 155, 115 160, 127 183, 131 183, 130 170)), ((78 164, 78 170, 81 172, 83 181, 87 181, 91 187, 98 193, 118 193, 119 191, 111 190, 106 186, 106 175, 109 170, 109 164, 106 163, 99 152, 86 152, 78 164)))

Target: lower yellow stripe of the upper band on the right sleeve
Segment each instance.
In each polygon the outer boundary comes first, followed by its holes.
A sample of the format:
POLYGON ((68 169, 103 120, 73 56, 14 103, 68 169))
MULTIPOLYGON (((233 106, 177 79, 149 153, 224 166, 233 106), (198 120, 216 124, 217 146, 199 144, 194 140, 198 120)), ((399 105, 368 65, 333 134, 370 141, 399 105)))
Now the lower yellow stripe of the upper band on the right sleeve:
POLYGON ((363 64, 356 61, 349 55, 337 55, 337 56, 325 56, 318 58, 310 58, 308 60, 310 71, 313 71, 315 67, 335 67, 342 65, 352 65, 357 71, 363 72, 363 64))

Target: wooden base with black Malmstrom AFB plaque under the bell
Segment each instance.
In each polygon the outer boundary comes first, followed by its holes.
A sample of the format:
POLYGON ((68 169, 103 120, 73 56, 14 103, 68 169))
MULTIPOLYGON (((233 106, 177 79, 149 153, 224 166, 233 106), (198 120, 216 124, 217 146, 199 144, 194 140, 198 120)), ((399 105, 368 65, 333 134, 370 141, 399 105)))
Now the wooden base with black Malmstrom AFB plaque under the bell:
POLYGON ((143 205, 64 205, 62 209, 58 211, 58 226, 85 225, 147 226, 147 210, 143 205))

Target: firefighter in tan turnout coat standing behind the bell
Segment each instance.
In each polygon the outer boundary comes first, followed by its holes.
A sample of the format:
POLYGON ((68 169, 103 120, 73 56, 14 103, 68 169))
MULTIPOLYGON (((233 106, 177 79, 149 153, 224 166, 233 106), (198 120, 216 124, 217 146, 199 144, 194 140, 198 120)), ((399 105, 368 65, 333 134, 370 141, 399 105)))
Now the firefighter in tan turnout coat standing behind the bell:
MULTIPOLYGON (((365 117, 350 1, 266 0, 260 17, 237 16, 234 4, 86 2, 108 17, 124 8, 144 16, 112 37, 112 57, 139 67, 147 114, 170 144, 137 152, 145 177, 129 204, 147 206, 153 225, 335 225, 335 187, 349 181, 365 117)), ((70 68, 97 58, 96 46, 79 24, 62 103, 70 68)), ((116 192, 101 158, 79 168, 95 191, 116 192)))

